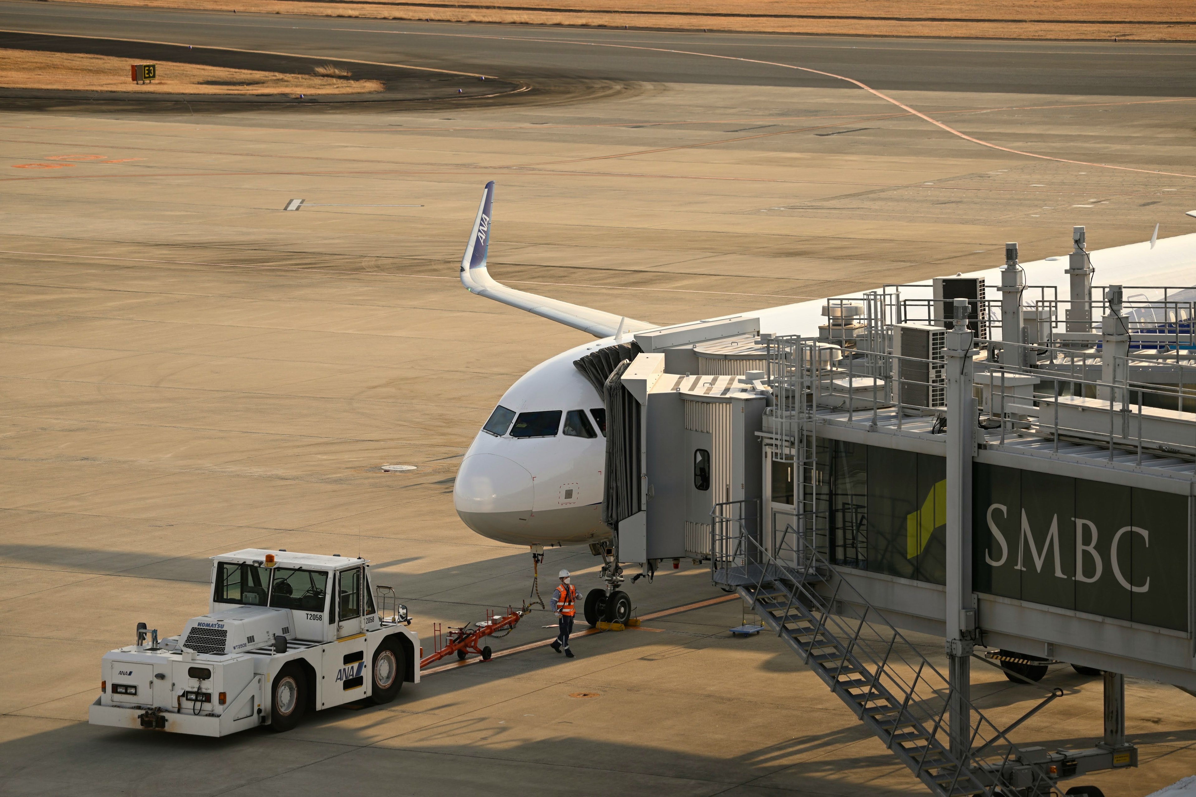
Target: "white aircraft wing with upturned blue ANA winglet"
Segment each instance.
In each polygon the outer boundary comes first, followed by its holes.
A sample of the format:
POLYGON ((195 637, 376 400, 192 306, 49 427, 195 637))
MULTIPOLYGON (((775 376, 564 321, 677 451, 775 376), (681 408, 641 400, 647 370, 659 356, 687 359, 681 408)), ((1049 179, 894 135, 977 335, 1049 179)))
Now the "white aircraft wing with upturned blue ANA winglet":
POLYGON ((465 246, 465 256, 460 258, 460 283, 470 293, 501 301, 504 305, 511 305, 519 309, 526 309, 529 313, 588 332, 596 338, 618 337, 621 333, 630 335, 659 326, 581 305, 570 305, 567 301, 537 296, 525 290, 515 290, 494 280, 486 268, 486 257, 490 247, 490 221, 494 217, 490 215, 493 204, 494 180, 490 180, 486 184, 482 202, 477 206, 477 217, 474 220, 474 231, 465 246))

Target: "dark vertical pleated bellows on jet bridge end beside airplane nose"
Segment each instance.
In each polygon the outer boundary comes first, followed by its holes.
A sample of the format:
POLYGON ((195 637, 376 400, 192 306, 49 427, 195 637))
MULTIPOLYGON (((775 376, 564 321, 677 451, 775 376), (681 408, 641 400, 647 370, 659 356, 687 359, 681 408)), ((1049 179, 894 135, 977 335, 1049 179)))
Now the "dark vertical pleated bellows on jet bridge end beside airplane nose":
MULTIPOLYGON (((628 347, 610 348, 626 349, 628 347)), ((631 357, 634 356, 631 355, 631 357)), ((616 531, 620 521, 630 517, 641 509, 640 413, 642 407, 622 382, 622 376, 630 364, 630 360, 623 360, 616 364, 603 386, 603 403, 606 406, 606 467, 603 471, 602 521, 616 531)))

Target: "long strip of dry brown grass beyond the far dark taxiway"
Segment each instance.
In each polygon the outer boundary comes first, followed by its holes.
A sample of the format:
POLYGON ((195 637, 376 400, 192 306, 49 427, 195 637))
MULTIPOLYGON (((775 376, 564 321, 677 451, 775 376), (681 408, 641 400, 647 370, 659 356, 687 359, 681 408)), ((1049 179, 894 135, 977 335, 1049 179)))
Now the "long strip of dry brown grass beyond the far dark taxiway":
POLYGON ((451 7, 447 2, 384 6, 288 0, 86 1, 325 17, 603 27, 626 25, 856 36, 1196 41, 1196 4, 1179 0, 1005 0, 1000 4, 962 0, 922 0, 917 4, 908 0, 739 0, 733 5, 722 0, 486 0, 476 4, 453 2, 451 7), (633 14, 627 13, 628 11, 660 13, 633 14), (678 12, 684 12, 685 16, 677 16, 678 12), (714 16, 728 13, 737 16, 714 16))

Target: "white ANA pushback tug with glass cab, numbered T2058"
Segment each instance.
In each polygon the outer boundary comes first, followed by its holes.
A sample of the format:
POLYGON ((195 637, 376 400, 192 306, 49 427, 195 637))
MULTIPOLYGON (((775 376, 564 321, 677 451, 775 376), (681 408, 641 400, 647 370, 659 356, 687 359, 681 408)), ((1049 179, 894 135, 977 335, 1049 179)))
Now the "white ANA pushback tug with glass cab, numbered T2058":
POLYGON ((307 711, 362 698, 390 703, 420 680, 420 638, 393 590, 378 587, 376 601, 371 587, 365 559, 260 548, 213 557, 208 613, 161 640, 139 623, 136 644, 104 655, 89 719, 226 736, 289 730, 307 711))

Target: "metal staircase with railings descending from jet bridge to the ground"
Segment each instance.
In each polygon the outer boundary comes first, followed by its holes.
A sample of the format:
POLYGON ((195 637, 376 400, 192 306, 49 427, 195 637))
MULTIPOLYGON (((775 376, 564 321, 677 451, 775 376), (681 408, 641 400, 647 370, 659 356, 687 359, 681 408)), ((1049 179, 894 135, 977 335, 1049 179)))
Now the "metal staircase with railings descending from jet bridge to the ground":
MULTIPOLYGON (((997 728, 953 689, 814 546, 776 541, 776 548, 799 553, 800 566, 773 557, 742 504, 715 505, 715 582, 751 602, 764 625, 933 793, 1057 793, 1041 766, 1018 760, 1006 732, 1012 727, 997 728)), ((782 537, 797 533, 791 526, 782 537)))

